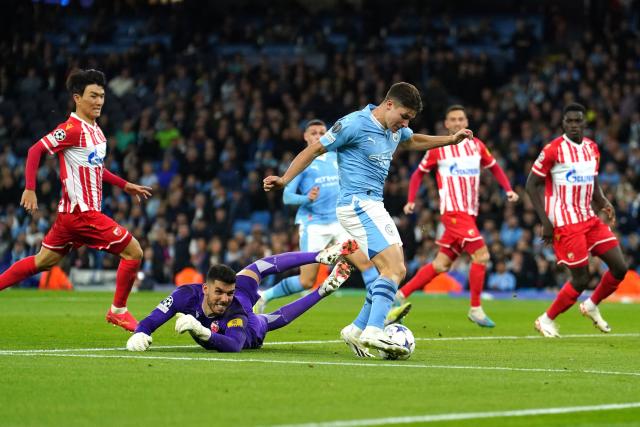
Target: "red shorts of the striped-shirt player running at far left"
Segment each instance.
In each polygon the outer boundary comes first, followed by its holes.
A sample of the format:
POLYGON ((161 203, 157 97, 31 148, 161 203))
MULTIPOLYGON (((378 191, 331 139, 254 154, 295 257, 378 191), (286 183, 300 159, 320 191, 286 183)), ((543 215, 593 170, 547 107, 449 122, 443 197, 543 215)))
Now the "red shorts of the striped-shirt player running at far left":
POLYGON ((112 254, 121 253, 133 236, 126 228, 97 211, 58 213, 42 246, 63 254, 73 248, 89 246, 112 254))

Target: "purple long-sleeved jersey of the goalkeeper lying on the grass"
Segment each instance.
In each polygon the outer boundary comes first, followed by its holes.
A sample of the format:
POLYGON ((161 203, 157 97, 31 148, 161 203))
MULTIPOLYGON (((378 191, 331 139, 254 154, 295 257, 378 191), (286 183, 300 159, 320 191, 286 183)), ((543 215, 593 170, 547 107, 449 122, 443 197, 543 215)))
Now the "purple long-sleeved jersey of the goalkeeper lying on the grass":
POLYGON ((267 333, 266 319, 252 311, 259 297, 254 280, 237 276, 235 295, 229 307, 219 316, 207 317, 202 309, 202 284, 183 285, 162 300, 138 324, 136 332, 151 335, 176 313, 184 313, 192 315, 203 326, 211 329, 211 338, 207 341, 193 337, 208 350, 237 352, 243 348, 259 348, 267 333))

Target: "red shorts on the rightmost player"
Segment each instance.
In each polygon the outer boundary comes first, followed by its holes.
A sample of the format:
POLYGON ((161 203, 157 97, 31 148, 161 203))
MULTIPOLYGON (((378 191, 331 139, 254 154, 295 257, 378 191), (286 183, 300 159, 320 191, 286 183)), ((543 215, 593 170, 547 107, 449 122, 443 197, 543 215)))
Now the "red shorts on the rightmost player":
POLYGON ((599 256, 618 244, 611 228, 598 217, 553 230, 557 263, 566 264, 569 268, 583 267, 589 264, 589 253, 599 256))

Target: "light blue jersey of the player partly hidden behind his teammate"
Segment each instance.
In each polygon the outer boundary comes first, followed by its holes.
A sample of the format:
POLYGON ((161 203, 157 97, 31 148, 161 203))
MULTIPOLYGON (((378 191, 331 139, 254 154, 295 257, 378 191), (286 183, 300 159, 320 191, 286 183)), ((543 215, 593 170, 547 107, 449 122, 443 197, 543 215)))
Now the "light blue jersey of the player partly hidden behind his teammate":
POLYGON ((313 162, 284 189, 284 203, 300 205, 296 214, 296 224, 330 224, 337 222, 336 203, 340 193, 338 158, 336 153, 327 152, 316 157, 313 162), (307 193, 319 187, 318 198, 311 202, 307 193))

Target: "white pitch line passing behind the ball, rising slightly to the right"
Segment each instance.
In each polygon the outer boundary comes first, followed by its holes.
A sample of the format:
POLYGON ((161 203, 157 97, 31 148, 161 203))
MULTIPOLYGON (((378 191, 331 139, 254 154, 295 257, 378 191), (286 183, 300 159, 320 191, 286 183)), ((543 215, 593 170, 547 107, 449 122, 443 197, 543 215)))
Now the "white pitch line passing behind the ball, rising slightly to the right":
MULTIPOLYGON (((635 338, 640 337, 640 333, 628 333, 628 334, 574 334, 563 335, 562 338, 635 338)), ((537 340, 548 339, 540 335, 525 335, 525 336, 469 336, 469 337, 434 337, 434 338, 416 338, 416 341, 495 341, 495 340, 537 340)), ((556 339, 557 341, 557 339, 556 339)), ((337 344, 342 343, 342 340, 309 340, 309 341, 273 341, 264 343, 264 347, 278 346, 278 345, 314 345, 314 344, 337 344)), ((200 348, 199 345, 155 345, 152 349, 174 349, 174 348, 200 348)), ((73 351, 118 351, 125 350, 124 347, 96 347, 96 348, 52 348, 52 349, 25 349, 25 350, 11 350, 0 349, 0 354, 11 353, 64 353, 73 351)))

